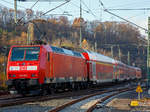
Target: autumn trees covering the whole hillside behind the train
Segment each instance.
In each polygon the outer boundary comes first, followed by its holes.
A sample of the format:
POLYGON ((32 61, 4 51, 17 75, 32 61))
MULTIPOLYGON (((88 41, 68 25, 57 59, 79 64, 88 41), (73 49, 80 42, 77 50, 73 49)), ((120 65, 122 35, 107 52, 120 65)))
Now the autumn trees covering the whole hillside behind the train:
MULTIPOLYGON (((42 12, 18 11, 18 24, 14 23, 14 10, 0 7, 0 45, 26 44, 28 25, 32 24, 32 40, 44 40, 55 46, 79 47, 80 21, 82 23, 82 47, 100 52, 124 63, 146 67, 145 39, 139 30, 125 22, 85 21, 76 18, 42 16, 42 12), (96 42, 96 44, 95 44, 96 42), (95 48, 95 45, 96 48, 95 48)), ((5 51, 4 48, 0 52, 5 51)), ((3 55, 3 54, 1 54, 3 55)), ((1 69, 3 70, 3 68, 1 69)))

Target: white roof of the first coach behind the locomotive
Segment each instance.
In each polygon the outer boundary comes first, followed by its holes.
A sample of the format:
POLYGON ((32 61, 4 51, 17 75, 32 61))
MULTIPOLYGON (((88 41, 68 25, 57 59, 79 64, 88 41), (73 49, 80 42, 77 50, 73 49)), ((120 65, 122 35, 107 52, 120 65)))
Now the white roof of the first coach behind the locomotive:
POLYGON ((110 58, 108 56, 104 56, 100 53, 96 53, 92 51, 87 51, 87 50, 85 51, 88 53, 90 60, 96 60, 96 61, 107 62, 107 63, 116 63, 115 59, 110 58))

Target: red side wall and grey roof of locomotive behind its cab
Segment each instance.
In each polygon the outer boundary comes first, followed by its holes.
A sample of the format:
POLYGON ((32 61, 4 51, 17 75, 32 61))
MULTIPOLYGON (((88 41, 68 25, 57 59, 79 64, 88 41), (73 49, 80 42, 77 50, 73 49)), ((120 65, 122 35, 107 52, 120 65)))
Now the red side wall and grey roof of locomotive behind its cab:
POLYGON ((55 82, 86 80, 86 60, 82 54, 57 47, 52 47, 52 49, 51 67, 53 71, 51 74, 55 82))

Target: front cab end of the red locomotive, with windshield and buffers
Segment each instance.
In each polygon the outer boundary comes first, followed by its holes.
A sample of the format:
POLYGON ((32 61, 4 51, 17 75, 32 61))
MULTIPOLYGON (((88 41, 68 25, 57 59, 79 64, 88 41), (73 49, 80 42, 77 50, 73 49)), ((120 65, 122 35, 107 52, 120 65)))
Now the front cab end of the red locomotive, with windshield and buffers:
POLYGON ((7 64, 8 87, 21 93, 42 84, 45 74, 40 74, 46 70, 42 67, 46 62, 45 52, 42 46, 12 46, 7 64))

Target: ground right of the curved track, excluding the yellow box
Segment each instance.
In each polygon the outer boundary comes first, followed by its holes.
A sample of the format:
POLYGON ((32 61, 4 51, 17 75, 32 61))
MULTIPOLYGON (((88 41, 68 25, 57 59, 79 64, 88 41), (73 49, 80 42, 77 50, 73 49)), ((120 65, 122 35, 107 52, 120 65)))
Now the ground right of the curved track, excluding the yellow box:
MULTIPOLYGON (((150 98, 147 90, 143 90, 143 93, 141 93, 141 99, 144 98, 150 98)), ((93 112, 150 112, 150 101, 147 101, 145 106, 130 107, 131 100, 135 99, 138 99, 136 91, 122 93, 115 96, 113 100, 109 99, 103 104, 98 104, 93 112)))

